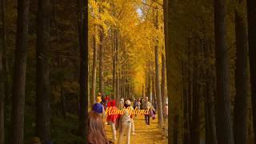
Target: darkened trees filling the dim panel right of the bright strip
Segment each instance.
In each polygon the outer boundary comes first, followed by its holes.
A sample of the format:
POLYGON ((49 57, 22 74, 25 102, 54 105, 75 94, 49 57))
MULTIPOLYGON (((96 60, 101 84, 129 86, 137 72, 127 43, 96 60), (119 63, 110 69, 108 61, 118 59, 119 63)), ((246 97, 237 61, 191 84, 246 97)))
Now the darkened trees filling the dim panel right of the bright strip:
POLYGON ((253 4, 164 2, 170 142, 254 142, 253 4))

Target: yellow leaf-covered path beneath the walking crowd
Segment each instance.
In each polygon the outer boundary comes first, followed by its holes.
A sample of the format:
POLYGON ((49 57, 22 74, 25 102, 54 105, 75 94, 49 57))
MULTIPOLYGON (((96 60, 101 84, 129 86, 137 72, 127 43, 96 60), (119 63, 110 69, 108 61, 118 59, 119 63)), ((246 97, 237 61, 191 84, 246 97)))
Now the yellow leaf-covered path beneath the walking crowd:
MULTIPOLYGON (((131 144, 165 144, 166 139, 162 132, 158 129, 158 118, 152 120, 150 118, 150 126, 146 126, 144 115, 137 115, 135 117, 135 135, 130 134, 131 144)), ((112 138, 112 132, 110 125, 106 126, 106 134, 108 138, 112 138)), ((117 138, 119 138, 119 130, 117 130, 117 138)), ((126 136, 122 140, 122 143, 126 142, 126 136)), ((117 143, 117 142, 115 142, 117 143)))

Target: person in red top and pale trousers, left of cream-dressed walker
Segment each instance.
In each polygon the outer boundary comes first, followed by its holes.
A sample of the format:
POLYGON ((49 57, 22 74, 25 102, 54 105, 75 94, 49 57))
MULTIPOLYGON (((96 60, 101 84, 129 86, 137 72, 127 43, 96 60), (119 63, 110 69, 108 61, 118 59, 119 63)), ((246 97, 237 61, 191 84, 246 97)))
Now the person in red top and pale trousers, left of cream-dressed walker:
MULTIPOLYGON (((115 101, 110 101, 110 108, 111 110, 118 110, 118 108, 115 106, 115 101)), ((116 130, 115 130, 115 122, 118 118, 118 114, 110 114, 110 115, 107 115, 107 122, 108 124, 110 124, 111 126, 111 129, 112 129, 112 140, 115 142, 117 140, 117 136, 116 136, 116 130)))

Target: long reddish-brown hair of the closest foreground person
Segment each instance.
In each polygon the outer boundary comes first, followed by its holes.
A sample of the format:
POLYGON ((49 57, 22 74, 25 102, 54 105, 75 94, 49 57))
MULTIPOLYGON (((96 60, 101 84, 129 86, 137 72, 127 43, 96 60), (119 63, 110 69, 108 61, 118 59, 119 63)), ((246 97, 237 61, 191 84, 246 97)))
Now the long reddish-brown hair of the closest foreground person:
POLYGON ((88 118, 88 142, 90 144, 109 144, 104 130, 102 117, 95 111, 90 111, 88 118))

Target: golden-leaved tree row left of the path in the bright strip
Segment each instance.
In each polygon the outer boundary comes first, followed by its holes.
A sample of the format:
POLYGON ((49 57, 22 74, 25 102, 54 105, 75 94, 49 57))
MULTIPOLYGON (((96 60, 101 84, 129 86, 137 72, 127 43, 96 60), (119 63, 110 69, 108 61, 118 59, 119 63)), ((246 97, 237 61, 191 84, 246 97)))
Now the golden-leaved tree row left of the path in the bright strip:
POLYGON ((129 31, 138 14, 139 1, 90 1, 90 103, 95 94, 113 94, 113 98, 134 97, 134 45, 138 42, 129 31), (130 13, 130 11, 133 11, 130 13))

